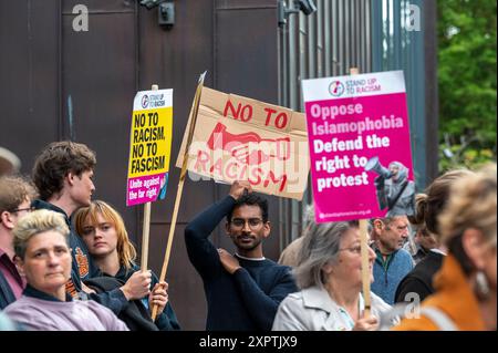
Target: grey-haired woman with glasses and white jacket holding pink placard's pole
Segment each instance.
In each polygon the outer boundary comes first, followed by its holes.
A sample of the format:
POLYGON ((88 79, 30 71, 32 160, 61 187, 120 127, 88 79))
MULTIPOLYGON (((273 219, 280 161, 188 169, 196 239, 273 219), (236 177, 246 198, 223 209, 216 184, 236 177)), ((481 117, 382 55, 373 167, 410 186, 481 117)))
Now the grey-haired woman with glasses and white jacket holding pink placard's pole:
MULTIPOLYGON (((312 212, 312 209, 309 210, 312 212)), ((371 293, 372 314, 365 318, 362 290, 361 241, 357 221, 315 224, 309 217, 298 267, 300 292, 279 307, 274 331, 373 331, 380 314, 391 307, 371 293)), ((375 252, 369 248, 369 270, 375 252)))

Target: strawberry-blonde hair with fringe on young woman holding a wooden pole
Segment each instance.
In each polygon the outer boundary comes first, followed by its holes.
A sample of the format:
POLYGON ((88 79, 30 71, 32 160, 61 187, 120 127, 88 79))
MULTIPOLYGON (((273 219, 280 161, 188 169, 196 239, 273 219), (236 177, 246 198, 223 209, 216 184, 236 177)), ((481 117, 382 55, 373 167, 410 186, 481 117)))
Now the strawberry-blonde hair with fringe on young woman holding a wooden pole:
POLYGON ((97 215, 101 215, 106 221, 113 225, 117 235, 117 256, 120 264, 126 269, 131 269, 135 263, 136 250, 129 241, 128 232, 123 220, 123 217, 108 204, 102 200, 94 200, 89 207, 82 207, 74 214, 74 227, 77 235, 81 237, 86 219, 96 227, 98 225, 97 215))

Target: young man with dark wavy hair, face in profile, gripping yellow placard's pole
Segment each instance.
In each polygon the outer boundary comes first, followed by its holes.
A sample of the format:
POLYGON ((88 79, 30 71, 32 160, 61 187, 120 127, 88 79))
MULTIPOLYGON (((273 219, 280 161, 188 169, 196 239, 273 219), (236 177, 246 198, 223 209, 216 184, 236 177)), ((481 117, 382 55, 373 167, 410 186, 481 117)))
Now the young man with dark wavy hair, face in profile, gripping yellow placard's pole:
POLYGON ((89 206, 95 186, 93 169, 95 153, 84 144, 70 141, 54 142, 42 149, 32 170, 33 183, 40 199, 32 203, 35 209, 49 209, 64 216, 70 228, 72 269, 66 292, 72 298, 91 299, 111 309, 116 315, 128 300, 149 293, 151 273, 137 272, 123 287, 110 292, 95 293, 82 282, 98 274, 83 240, 74 232, 70 217, 83 206, 89 206))

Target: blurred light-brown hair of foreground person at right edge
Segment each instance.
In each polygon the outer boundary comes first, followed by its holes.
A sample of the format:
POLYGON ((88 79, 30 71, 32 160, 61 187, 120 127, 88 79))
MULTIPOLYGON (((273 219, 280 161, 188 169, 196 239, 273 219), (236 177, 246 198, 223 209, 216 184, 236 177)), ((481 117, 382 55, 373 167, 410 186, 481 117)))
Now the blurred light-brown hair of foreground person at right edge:
POLYGON ((496 247, 496 164, 490 164, 453 185, 448 205, 439 217, 444 243, 473 228, 496 247))

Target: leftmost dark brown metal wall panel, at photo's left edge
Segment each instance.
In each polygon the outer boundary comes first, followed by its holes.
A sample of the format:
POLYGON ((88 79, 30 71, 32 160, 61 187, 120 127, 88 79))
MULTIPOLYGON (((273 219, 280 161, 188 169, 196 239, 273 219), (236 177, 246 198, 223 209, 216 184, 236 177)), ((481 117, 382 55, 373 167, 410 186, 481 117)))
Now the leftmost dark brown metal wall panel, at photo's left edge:
POLYGON ((30 174, 58 138, 59 1, 0 1, 0 145, 30 174))

